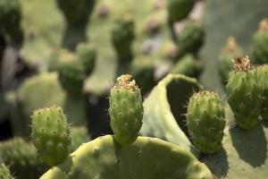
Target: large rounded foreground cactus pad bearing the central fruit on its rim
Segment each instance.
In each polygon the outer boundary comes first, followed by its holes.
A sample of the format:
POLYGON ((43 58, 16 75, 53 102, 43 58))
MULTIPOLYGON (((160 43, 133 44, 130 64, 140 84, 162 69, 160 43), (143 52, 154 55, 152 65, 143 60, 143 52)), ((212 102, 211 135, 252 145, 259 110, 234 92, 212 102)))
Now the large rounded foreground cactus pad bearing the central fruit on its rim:
POLYGON ((138 137, 121 147, 111 135, 83 144, 41 179, 212 179, 207 167, 186 149, 159 139, 138 137), (167 166, 167 163, 170 164, 167 166))

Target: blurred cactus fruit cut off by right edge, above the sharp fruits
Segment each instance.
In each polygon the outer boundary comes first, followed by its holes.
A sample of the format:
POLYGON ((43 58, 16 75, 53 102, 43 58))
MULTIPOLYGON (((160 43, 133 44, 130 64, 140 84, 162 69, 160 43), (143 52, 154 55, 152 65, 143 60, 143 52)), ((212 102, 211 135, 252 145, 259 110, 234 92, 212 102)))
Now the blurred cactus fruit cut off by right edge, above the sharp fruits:
POLYGON ((268 63, 268 18, 259 24, 259 29, 254 35, 251 55, 253 64, 268 63))

